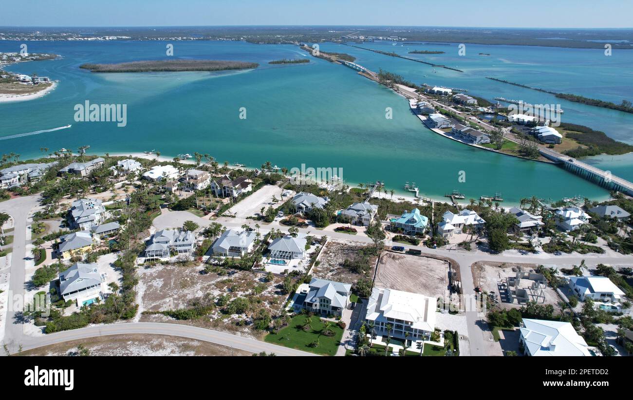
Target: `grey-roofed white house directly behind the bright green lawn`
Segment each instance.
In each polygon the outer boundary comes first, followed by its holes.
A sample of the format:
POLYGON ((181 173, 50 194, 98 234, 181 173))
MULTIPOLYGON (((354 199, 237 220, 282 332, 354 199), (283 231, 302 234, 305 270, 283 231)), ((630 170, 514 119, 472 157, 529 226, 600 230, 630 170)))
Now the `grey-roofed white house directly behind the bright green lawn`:
POLYGON ((342 316, 343 310, 348 306, 351 290, 351 284, 312 278, 310 284, 302 284, 298 289, 296 311, 304 308, 322 316, 342 316))

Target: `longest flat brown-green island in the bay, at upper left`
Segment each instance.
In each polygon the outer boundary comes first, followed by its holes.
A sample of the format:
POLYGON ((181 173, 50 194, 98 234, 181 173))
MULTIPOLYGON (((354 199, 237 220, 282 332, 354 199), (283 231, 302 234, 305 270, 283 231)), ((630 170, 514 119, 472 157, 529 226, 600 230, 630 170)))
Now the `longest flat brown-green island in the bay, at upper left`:
POLYGON ((165 59, 154 61, 132 61, 118 64, 82 64, 79 68, 92 72, 180 72, 180 71, 224 71, 257 68, 258 63, 244 61, 216 61, 211 59, 165 59))

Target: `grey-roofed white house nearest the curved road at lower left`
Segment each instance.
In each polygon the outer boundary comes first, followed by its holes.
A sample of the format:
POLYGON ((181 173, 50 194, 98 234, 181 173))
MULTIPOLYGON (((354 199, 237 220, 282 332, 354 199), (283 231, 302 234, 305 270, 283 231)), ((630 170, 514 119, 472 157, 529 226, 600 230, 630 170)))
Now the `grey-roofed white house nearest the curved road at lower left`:
POLYGON ((103 299, 101 274, 97 264, 75 263, 60 273, 60 294, 64 301, 73 301, 77 306, 92 304, 103 299))

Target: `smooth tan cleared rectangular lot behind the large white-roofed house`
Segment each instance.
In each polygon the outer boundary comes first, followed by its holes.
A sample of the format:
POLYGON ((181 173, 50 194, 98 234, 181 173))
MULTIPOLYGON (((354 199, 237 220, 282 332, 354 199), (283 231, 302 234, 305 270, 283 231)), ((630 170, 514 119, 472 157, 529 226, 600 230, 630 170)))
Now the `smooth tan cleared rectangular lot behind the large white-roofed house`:
POLYGON ((423 294, 448 295, 448 261, 385 251, 380 256, 375 285, 423 294))

